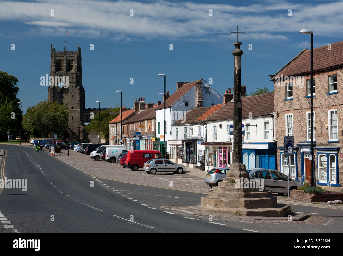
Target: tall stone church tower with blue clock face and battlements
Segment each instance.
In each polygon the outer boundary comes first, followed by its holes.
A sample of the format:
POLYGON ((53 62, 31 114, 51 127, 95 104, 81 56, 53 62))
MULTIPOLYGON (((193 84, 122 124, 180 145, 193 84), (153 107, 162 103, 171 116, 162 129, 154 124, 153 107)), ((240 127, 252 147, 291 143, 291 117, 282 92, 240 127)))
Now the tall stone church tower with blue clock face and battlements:
POLYGON ((77 51, 57 51, 51 44, 50 77, 48 101, 67 103, 70 116, 68 129, 59 137, 69 140, 84 138, 85 90, 82 86, 81 48, 77 51), (50 78, 51 79, 51 78, 50 78))

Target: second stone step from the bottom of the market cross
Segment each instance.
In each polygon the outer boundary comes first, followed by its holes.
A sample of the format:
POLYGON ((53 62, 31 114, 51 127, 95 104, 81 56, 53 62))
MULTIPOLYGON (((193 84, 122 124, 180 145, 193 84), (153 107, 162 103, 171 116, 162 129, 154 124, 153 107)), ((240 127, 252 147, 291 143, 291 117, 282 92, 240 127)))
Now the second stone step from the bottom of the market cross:
POLYGON ((259 198, 222 198, 213 196, 201 197, 201 204, 212 207, 243 207, 243 208, 257 208, 257 207, 271 207, 277 203, 276 196, 259 197, 259 198))

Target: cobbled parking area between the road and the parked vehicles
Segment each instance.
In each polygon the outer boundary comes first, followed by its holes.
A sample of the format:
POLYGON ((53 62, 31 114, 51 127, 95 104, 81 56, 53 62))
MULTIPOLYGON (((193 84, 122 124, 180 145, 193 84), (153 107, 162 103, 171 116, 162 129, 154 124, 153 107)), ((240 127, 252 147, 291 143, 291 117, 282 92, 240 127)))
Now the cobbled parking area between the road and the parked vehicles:
MULTIPOLYGON (((43 151, 49 153, 46 149, 43 151)), ((151 175, 147 174, 143 168, 132 171, 130 168, 123 168, 119 163, 112 164, 104 160, 95 161, 89 155, 74 152, 73 150, 69 150, 69 156, 67 156, 66 150, 56 154, 56 156, 47 155, 47 157, 56 157, 76 169, 97 177, 198 193, 206 193, 210 189, 205 184, 205 178, 192 175, 187 170, 185 174, 157 172, 157 174, 151 175)))

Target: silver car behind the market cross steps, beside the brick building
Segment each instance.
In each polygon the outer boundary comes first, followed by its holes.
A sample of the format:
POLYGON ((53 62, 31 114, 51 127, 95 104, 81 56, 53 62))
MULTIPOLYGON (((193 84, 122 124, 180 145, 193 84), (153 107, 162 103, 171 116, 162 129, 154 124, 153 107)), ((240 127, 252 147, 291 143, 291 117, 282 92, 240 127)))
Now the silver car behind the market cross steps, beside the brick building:
MULTIPOLYGON (((271 190, 272 193, 279 193, 279 195, 287 193, 288 176, 282 172, 259 168, 247 169, 247 172, 249 172, 249 177, 263 179, 263 185, 265 185, 266 190, 271 190)), ((297 189, 298 187, 301 187, 301 184, 289 178, 289 190, 297 189)))

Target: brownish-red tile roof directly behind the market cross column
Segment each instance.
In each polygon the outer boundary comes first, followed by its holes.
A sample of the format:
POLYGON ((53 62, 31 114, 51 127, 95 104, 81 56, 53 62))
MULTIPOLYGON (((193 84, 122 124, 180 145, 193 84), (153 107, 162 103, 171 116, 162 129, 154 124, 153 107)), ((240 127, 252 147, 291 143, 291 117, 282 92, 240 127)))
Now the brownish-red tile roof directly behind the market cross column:
MULTIPOLYGON (((217 113, 206 121, 220 121, 233 119, 234 103, 225 104, 217 113)), ((242 118, 269 115, 274 112, 274 92, 267 92, 256 96, 242 97, 242 118)))

